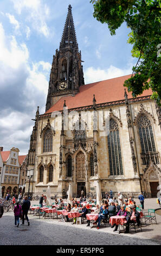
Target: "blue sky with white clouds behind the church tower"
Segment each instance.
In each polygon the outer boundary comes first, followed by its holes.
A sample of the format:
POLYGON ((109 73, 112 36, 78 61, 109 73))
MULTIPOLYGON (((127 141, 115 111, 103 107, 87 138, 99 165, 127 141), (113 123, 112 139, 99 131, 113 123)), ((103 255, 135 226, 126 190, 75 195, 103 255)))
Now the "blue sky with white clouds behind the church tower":
POLYGON ((111 36, 89 0, 0 1, 0 146, 28 153, 37 106, 44 113, 53 54, 72 5, 85 83, 131 74, 130 29, 111 36))

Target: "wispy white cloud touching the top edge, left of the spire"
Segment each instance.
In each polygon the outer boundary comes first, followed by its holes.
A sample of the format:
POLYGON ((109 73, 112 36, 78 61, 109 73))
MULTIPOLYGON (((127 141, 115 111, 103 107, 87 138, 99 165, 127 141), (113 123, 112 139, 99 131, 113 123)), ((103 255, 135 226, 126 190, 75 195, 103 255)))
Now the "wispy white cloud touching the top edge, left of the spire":
POLYGON ((49 8, 47 4, 43 4, 41 0, 11 0, 14 8, 20 15, 22 11, 27 12, 27 21, 31 22, 31 26, 39 33, 48 37, 50 34, 47 26, 49 19, 49 8))

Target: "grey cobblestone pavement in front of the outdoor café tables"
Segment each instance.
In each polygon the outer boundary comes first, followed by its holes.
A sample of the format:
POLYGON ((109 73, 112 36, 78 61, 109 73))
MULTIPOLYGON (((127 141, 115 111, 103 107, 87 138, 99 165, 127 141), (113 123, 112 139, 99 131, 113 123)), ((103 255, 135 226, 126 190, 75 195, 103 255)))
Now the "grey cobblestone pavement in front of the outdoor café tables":
MULTIPOLYGON (((35 202, 31 202, 35 204, 35 202)), ((148 208, 156 209, 156 200, 147 199, 148 208), (153 207, 152 207, 153 206, 153 207)), ((157 216, 158 224, 143 226, 143 232, 130 230, 130 234, 118 234, 111 227, 86 227, 86 224, 72 225, 56 219, 44 220, 38 216, 28 215, 30 226, 14 226, 12 211, 0 219, 0 245, 161 245, 161 216, 157 216)))

